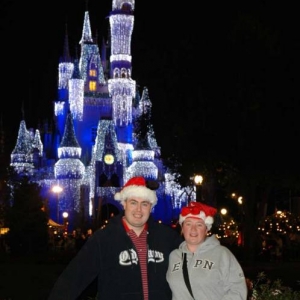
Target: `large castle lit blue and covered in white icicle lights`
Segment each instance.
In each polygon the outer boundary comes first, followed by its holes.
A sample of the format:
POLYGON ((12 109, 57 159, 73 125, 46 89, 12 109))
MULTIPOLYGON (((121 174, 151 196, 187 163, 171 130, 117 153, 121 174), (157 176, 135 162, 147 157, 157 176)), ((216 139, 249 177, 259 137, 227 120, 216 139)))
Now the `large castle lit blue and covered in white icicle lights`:
POLYGON ((11 166, 42 187, 51 219, 62 223, 67 212, 71 228, 100 226, 118 213, 121 207, 113 196, 132 176, 159 181, 156 219, 170 223, 187 201, 161 160, 148 90, 139 91, 131 78, 134 5, 134 0, 112 1, 110 38, 101 47, 94 42, 86 11, 79 59, 70 56, 66 34, 55 128, 44 124, 28 130, 22 120, 11 154, 11 166), (57 186, 61 191, 55 194, 57 186))

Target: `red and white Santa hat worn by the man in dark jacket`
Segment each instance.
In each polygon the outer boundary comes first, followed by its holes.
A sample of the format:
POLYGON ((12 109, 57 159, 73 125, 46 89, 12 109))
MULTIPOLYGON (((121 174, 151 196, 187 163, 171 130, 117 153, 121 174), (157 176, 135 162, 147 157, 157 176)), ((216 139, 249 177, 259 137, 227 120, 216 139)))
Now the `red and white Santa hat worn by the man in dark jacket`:
POLYGON ((133 177, 127 181, 120 192, 115 194, 115 200, 124 202, 131 197, 139 197, 148 200, 152 206, 157 203, 156 192, 157 184, 146 181, 144 177, 133 177))

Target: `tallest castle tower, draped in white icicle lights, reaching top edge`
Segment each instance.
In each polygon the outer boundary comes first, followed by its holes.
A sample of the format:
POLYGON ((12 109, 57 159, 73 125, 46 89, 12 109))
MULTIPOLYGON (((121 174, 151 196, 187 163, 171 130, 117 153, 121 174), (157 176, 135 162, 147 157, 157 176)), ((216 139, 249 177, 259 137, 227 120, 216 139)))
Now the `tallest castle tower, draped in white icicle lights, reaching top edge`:
MULTIPOLYGON (((132 122, 132 99, 136 93, 136 83, 131 78, 131 36, 134 23, 134 0, 113 0, 112 8, 109 17, 111 79, 108 81, 108 90, 112 97, 114 123, 119 127, 124 127, 132 122)), ((130 134, 131 132, 128 131, 120 133, 121 142, 130 142, 130 134)))

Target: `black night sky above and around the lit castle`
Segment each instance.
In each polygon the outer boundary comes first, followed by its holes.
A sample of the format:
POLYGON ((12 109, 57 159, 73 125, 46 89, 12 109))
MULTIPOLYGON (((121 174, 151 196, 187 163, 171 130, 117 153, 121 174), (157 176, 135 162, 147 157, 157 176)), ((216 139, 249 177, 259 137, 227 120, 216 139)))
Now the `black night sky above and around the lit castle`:
MULTIPOLYGON (((99 37, 111 2, 88 3, 99 37)), ((275 2, 136 0, 132 76, 149 89, 163 156, 300 174, 300 19, 296 6, 275 2)), ((65 24, 75 53, 85 8, 1 1, 0 112, 13 140, 22 105, 28 127, 52 117, 65 24)))

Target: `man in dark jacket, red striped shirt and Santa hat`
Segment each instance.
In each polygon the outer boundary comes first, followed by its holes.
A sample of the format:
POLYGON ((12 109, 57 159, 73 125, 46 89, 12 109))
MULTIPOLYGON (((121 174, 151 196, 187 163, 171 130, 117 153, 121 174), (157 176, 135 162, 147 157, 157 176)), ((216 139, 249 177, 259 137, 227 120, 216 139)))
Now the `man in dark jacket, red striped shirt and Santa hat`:
POLYGON ((124 212, 95 231, 55 283, 48 300, 75 300, 97 277, 101 300, 171 300, 166 281, 170 252, 182 242, 150 216, 155 191, 143 177, 115 194, 124 212))

